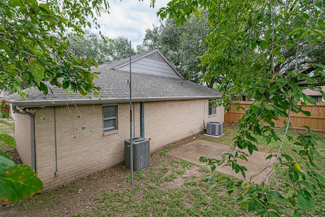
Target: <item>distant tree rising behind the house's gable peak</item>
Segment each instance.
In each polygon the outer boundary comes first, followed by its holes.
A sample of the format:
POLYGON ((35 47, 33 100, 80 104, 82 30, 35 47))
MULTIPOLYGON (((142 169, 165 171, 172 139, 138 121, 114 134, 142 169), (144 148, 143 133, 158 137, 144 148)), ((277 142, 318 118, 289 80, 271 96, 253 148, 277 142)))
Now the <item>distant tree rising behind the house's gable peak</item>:
POLYGON ((204 41, 209 26, 207 14, 204 11, 198 14, 198 17, 191 15, 184 26, 176 25, 175 19, 167 19, 159 27, 146 29, 143 47, 139 46, 138 49, 159 49, 185 79, 202 82, 201 78, 207 66, 201 65, 198 56, 203 55, 207 49, 204 41))

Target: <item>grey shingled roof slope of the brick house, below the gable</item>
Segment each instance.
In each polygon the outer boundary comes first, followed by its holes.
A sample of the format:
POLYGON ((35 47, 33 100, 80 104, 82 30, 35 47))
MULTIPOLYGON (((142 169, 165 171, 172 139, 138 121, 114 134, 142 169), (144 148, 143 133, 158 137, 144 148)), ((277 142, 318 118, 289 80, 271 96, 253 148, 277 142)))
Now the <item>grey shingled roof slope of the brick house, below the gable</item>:
MULTIPOLYGON (((93 71, 101 72, 94 83, 100 86, 101 99, 91 96, 91 99, 74 92, 70 96, 63 89, 47 84, 51 91, 47 96, 37 88, 26 89, 27 100, 17 94, 10 95, 7 101, 16 106, 38 107, 68 104, 104 104, 129 102, 129 72, 108 69, 107 64, 101 65, 93 71), (53 103, 54 102, 54 103, 53 103)), ((132 73, 132 101, 150 102, 187 99, 216 99, 220 98, 219 91, 187 81, 181 78, 132 73), (183 82, 183 83, 182 83, 183 82), (182 85, 183 84, 183 85, 182 85)))

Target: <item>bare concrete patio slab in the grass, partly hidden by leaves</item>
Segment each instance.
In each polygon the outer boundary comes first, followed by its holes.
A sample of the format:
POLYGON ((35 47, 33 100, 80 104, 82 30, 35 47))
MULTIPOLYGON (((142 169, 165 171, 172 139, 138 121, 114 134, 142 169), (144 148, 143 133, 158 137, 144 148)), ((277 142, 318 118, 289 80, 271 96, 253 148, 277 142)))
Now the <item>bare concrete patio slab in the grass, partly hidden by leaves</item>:
MULTIPOLYGON (((200 157, 221 159, 221 154, 228 152, 229 150, 230 146, 228 145, 196 140, 169 151, 167 154, 181 160, 204 166, 207 164, 201 163, 199 161, 200 157)), ((245 150, 245 153, 248 153, 248 150, 245 150)), ((268 154, 264 152, 254 151, 252 156, 248 158, 248 161, 240 159, 237 161, 240 166, 247 168, 246 179, 249 179, 252 175, 256 175, 252 180, 259 181, 271 171, 271 166, 274 163, 275 158, 265 160, 267 156, 268 154)), ((243 179, 241 172, 236 174, 235 171, 232 170, 231 166, 220 166, 217 167, 216 170, 243 179)))

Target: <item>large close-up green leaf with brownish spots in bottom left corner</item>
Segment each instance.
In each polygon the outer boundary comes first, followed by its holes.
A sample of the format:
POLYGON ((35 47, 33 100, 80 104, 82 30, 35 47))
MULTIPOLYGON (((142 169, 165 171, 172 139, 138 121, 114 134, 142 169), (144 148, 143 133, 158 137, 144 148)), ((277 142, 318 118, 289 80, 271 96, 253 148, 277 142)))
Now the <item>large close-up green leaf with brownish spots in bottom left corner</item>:
POLYGON ((0 198, 1 204, 17 203, 43 189, 42 181, 27 165, 15 165, 0 156, 0 198))

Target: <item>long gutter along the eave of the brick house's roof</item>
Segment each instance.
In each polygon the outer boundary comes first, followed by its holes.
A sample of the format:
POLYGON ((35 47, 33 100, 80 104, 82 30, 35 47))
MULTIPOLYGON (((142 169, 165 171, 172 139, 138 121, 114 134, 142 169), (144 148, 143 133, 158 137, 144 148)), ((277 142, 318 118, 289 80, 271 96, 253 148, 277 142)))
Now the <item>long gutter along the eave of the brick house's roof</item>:
MULTIPOLYGON (((197 99, 217 99, 221 96, 198 96, 198 97, 158 97, 158 98, 132 98, 132 102, 156 102, 173 100, 197 100, 197 99)), ((14 106, 44 107, 44 106, 63 106, 63 105, 90 105, 105 103, 128 103, 129 98, 111 99, 75 99, 75 100, 52 100, 52 101, 10 101, 14 106)))

